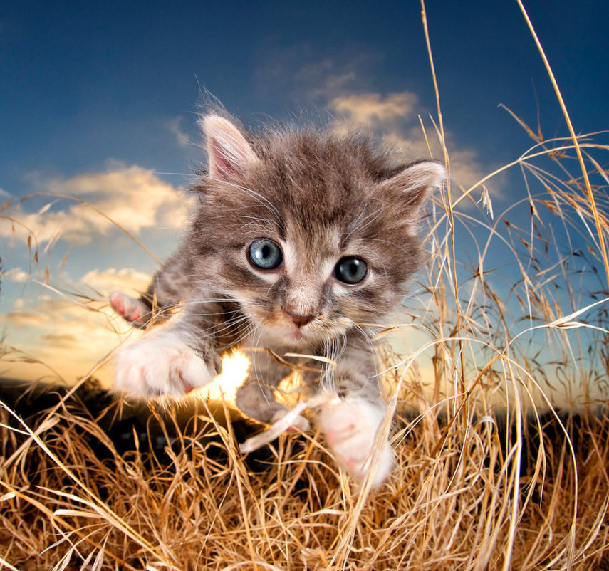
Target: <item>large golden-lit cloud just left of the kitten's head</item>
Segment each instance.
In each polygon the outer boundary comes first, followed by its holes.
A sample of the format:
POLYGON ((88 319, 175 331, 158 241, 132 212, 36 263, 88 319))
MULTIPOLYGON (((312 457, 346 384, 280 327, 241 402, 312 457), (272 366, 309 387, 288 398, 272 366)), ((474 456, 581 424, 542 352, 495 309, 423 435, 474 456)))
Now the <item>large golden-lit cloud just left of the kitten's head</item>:
MULTIPOLYGON (((58 194, 35 212, 18 205, 9 216, 17 221, 15 233, 38 243, 60 238, 86 244, 96 236, 108 235, 118 226, 133 235, 144 229, 179 226, 188 211, 188 201, 159 179, 150 169, 113 162, 107 172, 47 179, 40 173, 29 177, 38 192, 58 194)), ((11 224, 0 226, 0 235, 11 237, 11 224)))

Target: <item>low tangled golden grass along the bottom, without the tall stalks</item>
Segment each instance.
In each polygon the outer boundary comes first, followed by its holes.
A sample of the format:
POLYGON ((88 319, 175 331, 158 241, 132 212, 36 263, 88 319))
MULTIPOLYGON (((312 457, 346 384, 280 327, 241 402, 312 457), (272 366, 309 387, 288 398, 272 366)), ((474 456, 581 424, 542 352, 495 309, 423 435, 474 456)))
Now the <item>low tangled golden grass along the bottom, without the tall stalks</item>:
POLYGON ((521 452, 533 437, 501 434, 505 421, 398 414, 397 468, 359 513, 358 491, 318 435, 282 436, 254 469, 231 425, 203 410, 183 429, 172 414, 157 415, 147 430, 152 440, 165 435, 164 449, 140 449, 140 433, 125 451, 99 422, 115 405, 94 419, 76 399, 58 402, 27 423, 0 412, 0 561, 9 568, 609 564, 605 419, 580 417, 573 455, 546 417, 544 448, 525 469, 521 452))

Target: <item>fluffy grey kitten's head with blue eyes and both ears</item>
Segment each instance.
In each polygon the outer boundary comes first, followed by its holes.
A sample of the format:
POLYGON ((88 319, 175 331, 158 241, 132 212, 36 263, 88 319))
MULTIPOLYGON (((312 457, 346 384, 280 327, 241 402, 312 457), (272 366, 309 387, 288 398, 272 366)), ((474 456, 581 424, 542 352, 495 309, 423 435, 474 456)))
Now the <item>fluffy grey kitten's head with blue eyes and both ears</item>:
POLYGON ((202 286, 238 300, 263 339, 296 347, 395 308, 420 264, 417 221, 441 164, 397 165, 362 137, 202 123, 209 172, 190 236, 202 286))

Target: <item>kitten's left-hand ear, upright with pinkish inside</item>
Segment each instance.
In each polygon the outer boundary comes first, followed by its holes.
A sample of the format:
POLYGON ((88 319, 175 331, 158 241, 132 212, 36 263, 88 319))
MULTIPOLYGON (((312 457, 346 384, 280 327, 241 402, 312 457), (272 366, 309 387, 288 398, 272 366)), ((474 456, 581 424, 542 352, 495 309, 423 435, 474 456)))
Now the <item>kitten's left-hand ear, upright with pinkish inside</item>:
POLYGON ((207 115, 202 125, 207 137, 209 177, 212 179, 238 179, 246 169, 259 162, 249 142, 229 120, 207 115))

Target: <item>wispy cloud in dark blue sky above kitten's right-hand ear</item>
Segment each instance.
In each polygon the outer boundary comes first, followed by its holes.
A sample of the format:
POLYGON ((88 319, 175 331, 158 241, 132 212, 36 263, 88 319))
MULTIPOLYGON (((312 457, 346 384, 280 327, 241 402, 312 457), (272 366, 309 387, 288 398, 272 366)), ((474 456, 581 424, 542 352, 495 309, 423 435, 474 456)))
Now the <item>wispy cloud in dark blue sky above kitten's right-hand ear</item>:
MULTIPOLYGON (((374 49, 355 56, 351 50, 327 57, 315 46, 303 44, 283 51, 269 49, 262 56, 257 70, 261 93, 266 93, 269 85, 286 90, 294 103, 308 107, 313 103, 318 110, 326 110, 323 118, 333 130, 369 132, 402 150, 406 158, 443 159, 442 142, 429 118, 435 101, 425 105, 419 94, 408 89, 385 93, 380 87, 386 82, 376 71, 382 67, 383 56, 374 49)), ((444 136, 453 194, 459 194, 459 188, 474 186, 491 167, 482 164, 475 147, 463 145, 454 132, 446 130, 444 136)), ((489 191, 497 197, 500 188, 500 181, 494 179, 489 191)), ((481 193, 482 188, 474 195, 480 197, 481 193)))

